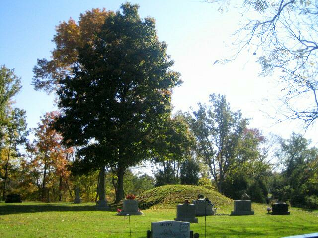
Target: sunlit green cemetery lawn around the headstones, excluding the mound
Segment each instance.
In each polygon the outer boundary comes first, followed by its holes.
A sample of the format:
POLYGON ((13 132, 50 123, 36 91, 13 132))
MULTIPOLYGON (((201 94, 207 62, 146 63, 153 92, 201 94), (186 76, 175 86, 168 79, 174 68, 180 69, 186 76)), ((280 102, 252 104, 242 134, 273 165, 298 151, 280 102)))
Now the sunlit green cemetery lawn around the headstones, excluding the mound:
MULTIPOLYGON (((266 205, 254 204, 255 215, 229 216, 232 206, 207 217, 207 237, 279 238, 318 231, 318 213, 290 209, 289 216, 266 215, 266 205)), ((129 238, 129 219, 115 211, 96 211, 92 203, 0 203, 0 238, 23 237, 111 237, 129 238)), ((145 238, 153 221, 174 220, 175 205, 158 204, 131 216, 132 238, 145 238)), ((204 237, 204 217, 190 229, 204 237)))

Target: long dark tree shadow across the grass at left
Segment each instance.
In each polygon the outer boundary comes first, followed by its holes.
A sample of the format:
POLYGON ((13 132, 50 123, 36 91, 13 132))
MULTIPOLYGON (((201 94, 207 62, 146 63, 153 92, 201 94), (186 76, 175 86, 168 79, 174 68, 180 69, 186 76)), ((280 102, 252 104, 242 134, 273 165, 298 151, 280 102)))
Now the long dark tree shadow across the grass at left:
MULTIPOLYGON (((102 211, 96 209, 95 205, 56 205, 56 204, 40 204, 40 205, 5 205, 0 207, 0 216, 19 213, 35 213, 35 212, 86 212, 86 211, 102 211)), ((114 212, 115 209, 111 209, 114 212)))

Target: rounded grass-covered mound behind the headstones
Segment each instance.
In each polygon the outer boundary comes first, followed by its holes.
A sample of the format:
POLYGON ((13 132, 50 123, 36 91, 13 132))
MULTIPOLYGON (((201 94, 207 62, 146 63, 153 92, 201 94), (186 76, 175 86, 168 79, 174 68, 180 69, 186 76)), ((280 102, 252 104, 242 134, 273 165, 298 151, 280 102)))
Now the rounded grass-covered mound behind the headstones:
POLYGON ((141 209, 148 209, 160 204, 164 204, 166 207, 173 205, 174 207, 174 205, 182 203, 184 199, 188 199, 189 202, 192 202, 193 199, 197 199, 199 194, 203 194, 205 197, 208 197, 212 203, 218 204, 219 206, 233 204, 232 199, 223 196, 217 191, 202 186, 191 185, 165 185, 156 187, 140 194, 137 199, 139 200, 141 209))

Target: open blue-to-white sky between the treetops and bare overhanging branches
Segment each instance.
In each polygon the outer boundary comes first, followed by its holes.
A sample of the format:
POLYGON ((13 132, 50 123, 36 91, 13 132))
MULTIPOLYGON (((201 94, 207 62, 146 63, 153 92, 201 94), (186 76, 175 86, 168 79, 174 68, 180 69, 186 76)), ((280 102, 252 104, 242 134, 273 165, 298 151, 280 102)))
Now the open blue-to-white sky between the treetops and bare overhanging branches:
MULTIPOLYGON (((23 88, 15 97, 16 107, 27 111, 27 123, 36 127, 40 116, 56 110, 54 95, 37 92, 31 86, 32 69, 37 58, 49 58, 54 44, 55 26, 91 8, 118 10, 120 0, 2 0, 0 7, 0 65, 15 68, 23 88)), ((159 40, 168 44, 168 53, 175 60, 174 70, 182 75, 183 85, 176 88, 174 110, 188 111, 198 102, 207 102, 209 94, 227 97, 234 110, 252 118, 251 127, 284 138, 295 131, 303 133, 299 121, 276 124, 274 116, 281 86, 273 78, 258 77, 255 56, 242 53, 225 65, 213 65, 215 60, 230 53, 231 34, 243 19, 235 11, 219 14, 217 7, 202 0, 134 0, 140 5, 142 17, 156 20, 159 40)), ((305 137, 318 145, 318 127, 311 127, 305 137)))

